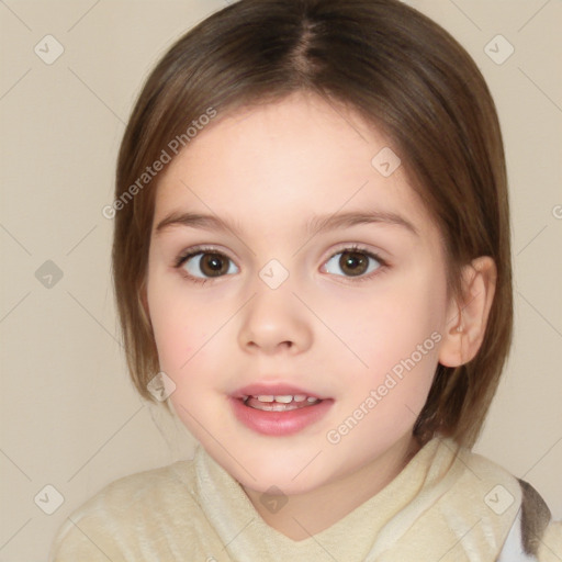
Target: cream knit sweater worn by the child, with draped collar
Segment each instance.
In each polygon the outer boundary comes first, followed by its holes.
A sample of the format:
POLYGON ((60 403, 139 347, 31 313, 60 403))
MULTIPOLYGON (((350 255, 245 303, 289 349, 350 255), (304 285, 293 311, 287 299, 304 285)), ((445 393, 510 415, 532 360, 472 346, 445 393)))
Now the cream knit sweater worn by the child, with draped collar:
POLYGON ((528 485, 436 438, 375 496, 328 529, 294 541, 263 521, 200 446, 191 461, 102 490, 65 521, 49 560, 561 562, 562 522, 549 519, 528 485), (525 554, 521 541, 535 553, 525 554))

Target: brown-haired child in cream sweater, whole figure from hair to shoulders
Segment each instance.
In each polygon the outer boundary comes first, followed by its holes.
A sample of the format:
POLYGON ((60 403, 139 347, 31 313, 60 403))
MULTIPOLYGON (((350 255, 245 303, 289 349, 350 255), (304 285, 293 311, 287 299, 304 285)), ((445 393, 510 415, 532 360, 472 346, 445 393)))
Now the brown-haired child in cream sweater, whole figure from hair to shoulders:
POLYGON ((562 560, 538 493, 470 450, 512 337, 508 202, 442 29, 396 0, 225 8, 148 78, 106 211, 133 381, 199 445, 102 490, 52 560, 562 560))

